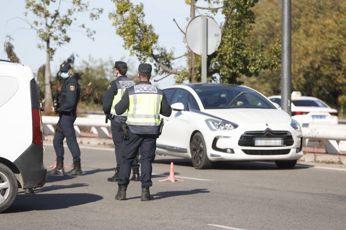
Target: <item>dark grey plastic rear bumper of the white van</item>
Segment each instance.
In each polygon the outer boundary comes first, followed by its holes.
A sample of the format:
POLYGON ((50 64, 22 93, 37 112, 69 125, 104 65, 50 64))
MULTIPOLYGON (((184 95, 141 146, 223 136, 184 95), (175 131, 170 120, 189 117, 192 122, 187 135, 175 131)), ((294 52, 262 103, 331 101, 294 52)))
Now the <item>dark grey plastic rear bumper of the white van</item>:
POLYGON ((43 165, 43 147, 31 144, 13 163, 19 169, 17 179, 23 189, 44 186, 47 169, 43 165))

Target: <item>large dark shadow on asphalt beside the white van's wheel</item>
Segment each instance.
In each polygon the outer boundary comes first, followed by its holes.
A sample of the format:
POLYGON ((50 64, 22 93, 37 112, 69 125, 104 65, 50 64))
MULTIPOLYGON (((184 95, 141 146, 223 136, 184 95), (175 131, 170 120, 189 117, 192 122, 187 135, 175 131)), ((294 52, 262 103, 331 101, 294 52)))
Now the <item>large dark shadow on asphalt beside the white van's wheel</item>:
POLYGON ((15 202, 4 213, 64 209, 102 199, 103 197, 90 193, 18 194, 15 202))

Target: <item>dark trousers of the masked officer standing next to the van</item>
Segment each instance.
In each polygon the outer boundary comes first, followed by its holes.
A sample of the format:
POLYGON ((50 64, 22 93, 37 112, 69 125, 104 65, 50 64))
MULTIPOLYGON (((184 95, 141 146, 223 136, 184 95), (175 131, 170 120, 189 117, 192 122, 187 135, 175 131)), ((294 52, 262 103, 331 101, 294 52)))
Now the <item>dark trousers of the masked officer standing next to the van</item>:
POLYGON ((69 147, 73 162, 81 161, 81 151, 76 139, 76 133, 74 131, 73 122, 76 120, 76 113, 65 112, 59 114, 59 121, 56 124, 55 135, 53 139, 53 145, 56 152, 56 160, 64 160, 64 147, 63 141, 66 137, 66 143, 69 147))

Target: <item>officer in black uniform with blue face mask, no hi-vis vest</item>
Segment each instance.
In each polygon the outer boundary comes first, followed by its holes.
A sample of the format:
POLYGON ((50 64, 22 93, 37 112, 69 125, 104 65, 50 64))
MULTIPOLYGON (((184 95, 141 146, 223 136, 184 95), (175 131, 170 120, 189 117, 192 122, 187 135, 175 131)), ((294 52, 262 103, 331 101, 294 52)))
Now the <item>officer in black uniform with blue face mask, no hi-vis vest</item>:
POLYGON ((60 65, 60 76, 65 79, 59 93, 59 107, 57 111, 52 107, 52 112, 59 113, 59 121, 56 124, 53 146, 56 152, 56 168, 48 172, 48 175, 81 176, 81 152, 76 140, 73 122, 76 120, 77 104, 79 102, 81 86, 72 75, 71 65, 63 63, 60 65), (63 140, 73 156, 73 169, 64 172, 64 147, 63 140))

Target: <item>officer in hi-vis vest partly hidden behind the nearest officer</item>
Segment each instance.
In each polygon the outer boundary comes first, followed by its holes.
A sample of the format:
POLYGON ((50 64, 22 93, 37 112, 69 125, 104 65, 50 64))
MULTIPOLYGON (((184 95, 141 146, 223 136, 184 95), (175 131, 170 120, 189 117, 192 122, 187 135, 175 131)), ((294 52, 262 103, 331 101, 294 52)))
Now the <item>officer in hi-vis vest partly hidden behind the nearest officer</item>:
MULTIPOLYGON (((108 89, 103 98, 103 112, 111 119, 111 131, 112 139, 115 146, 115 157, 117 160, 117 168, 115 169, 115 174, 113 177, 108 178, 108 181, 118 181, 119 179, 119 170, 121 166, 121 147, 122 142, 122 129, 121 123, 125 122, 127 119, 127 112, 116 113, 114 106, 120 101, 122 94, 126 88, 134 86, 136 82, 128 78, 125 74, 127 72, 127 64, 123 61, 116 61, 113 67, 114 75, 117 76, 117 79, 112 81, 108 85, 108 89), (109 116, 111 114, 111 116, 109 116)), ((137 158, 134 160, 132 166, 133 177, 132 180, 139 181, 139 164, 137 158)))

